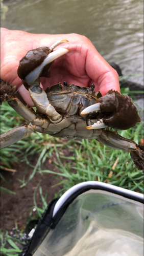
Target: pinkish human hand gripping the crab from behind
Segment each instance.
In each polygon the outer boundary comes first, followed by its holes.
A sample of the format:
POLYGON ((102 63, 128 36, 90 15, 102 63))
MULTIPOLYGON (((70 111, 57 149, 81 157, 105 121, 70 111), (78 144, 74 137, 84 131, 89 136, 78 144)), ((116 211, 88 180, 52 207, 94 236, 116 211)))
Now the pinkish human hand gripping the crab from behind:
POLYGON ((12 86, 16 85, 22 98, 29 105, 33 105, 29 92, 17 75, 19 60, 29 50, 50 47, 60 39, 69 41, 59 46, 69 49, 69 52, 54 61, 50 78, 40 78, 44 90, 52 84, 66 81, 81 87, 89 87, 94 83, 95 91, 100 91, 102 95, 111 89, 120 92, 117 72, 98 53, 88 38, 78 34, 31 34, 1 28, 1 79, 12 86))

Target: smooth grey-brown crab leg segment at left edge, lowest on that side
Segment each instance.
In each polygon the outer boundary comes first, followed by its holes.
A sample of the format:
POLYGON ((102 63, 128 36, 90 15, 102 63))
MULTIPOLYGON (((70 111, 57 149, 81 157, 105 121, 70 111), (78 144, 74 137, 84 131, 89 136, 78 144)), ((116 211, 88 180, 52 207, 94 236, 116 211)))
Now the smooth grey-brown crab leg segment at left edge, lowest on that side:
POLYGON ((29 136, 34 131, 32 124, 18 126, 1 135, 1 148, 14 144, 15 142, 29 136))

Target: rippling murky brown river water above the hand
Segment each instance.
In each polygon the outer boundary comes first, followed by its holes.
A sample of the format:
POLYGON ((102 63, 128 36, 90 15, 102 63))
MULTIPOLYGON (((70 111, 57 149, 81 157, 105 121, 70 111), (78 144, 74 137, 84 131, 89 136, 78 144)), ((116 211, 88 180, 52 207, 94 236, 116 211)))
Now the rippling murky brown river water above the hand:
POLYGON ((9 0, 1 26, 31 33, 87 36, 129 80, 143 84, 143 0, 9 0))

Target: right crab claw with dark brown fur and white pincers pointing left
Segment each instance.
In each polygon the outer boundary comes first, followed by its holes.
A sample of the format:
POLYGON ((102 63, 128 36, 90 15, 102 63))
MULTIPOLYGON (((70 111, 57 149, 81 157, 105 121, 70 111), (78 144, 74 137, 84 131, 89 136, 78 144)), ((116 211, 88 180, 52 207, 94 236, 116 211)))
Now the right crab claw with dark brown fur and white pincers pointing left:
POLYGON ((108 91, 100 97, 97 103, 88 106, 81 112, 85 115, 91 112, 97 113, 97 122, 87 126, 87 129, 103 129, 110 126, 116 130, 127 130, 140 122, 137 109, 129 96, 121 95, 117 91, 108 91))

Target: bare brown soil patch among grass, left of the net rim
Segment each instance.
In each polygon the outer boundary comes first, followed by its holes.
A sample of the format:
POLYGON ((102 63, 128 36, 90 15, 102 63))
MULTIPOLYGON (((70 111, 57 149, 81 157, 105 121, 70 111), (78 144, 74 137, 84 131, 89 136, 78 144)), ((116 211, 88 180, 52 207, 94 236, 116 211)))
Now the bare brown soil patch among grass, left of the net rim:
MULTIPOLYGON (((36 156, 32 160, 32 164, 36 163, 36 156)), ((42 195, 47 194, 46 202, 49 203, 60 189, 62 185, 57 185, 61 178, 57 178, 52 174, 39 174, 36 173, 34 178, 23 188, 20 188, 21 183, 18 179, 22 180, 23 175, 26 172, 26 181, 28 180, 33 168, 29 167, 26 163, 20 163, 14 167, 17 172, 9 172, 2 170, 2 175, 7 182, 3 182, 2 186, 8 188, 14 192, 13 194, 1 193, 1 228, 9 231, 17 224, 18 229, 22 229, 26 223, 30 214, 30 209, 34 206, 34 190, 39 183, 42 187, 42 195)), ((53 170, 58 172, 56 166, 50 159, 47 159, 43 165, 43 169, 53 170)), ((36 192, 36 203, 38 207, 42 206, 42 200, 39 194, 39 188, 36 192)), ((33 213, 33 215, 35 212, 33 213)))

